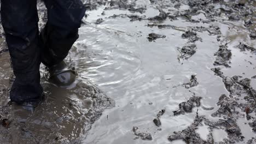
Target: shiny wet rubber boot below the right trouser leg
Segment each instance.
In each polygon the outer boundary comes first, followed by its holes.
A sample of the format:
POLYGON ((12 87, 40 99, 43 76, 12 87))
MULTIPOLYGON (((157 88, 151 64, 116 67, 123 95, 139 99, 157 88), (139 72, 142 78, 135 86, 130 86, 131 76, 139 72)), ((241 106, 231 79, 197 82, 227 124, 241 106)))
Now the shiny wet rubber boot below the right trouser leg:
POLYGON ((69 86, 75 81, 75 71, 69 68, 64 61, 50 67, 49 73, 48 81, 58 87, 69 86))

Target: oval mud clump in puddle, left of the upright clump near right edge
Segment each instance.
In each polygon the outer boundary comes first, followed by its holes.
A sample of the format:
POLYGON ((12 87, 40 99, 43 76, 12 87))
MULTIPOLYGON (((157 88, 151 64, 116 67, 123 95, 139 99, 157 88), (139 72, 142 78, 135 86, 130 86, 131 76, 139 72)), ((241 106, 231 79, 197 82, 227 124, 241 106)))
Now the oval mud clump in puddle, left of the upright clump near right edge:
POLYGON ((178 51, 181 53, 179 56, 179 59, 188 59, 191 56, 193 56, 196 53, 196 45, 195 44, 189 44, 185 45, 182 48, 178 47, 178 51))

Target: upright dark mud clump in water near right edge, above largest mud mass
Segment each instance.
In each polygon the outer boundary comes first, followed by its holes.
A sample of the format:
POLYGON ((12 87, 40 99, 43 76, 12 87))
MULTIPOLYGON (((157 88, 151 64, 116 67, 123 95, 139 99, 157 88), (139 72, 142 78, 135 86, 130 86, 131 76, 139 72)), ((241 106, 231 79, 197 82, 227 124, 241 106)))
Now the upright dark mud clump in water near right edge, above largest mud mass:
POLYGON ((225 67, 230 67, 228 63, 230 63, 232 53, 231 50, 228 50, 225 45, 220 45, 219 50, 214 53, 214 56, 216 56, 214 65, 224 65, 225 67))

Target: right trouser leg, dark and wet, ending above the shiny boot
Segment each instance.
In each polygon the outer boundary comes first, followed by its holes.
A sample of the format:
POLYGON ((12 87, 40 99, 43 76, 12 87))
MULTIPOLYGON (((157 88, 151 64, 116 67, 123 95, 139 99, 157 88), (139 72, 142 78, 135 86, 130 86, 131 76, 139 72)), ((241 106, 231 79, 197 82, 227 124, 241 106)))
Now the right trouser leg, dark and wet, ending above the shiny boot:
POLYGON ((60 63, 68 55, 85 14, 80 0, 44 0, 48 22, 40 33, 42 62, 47 67, 60 63))

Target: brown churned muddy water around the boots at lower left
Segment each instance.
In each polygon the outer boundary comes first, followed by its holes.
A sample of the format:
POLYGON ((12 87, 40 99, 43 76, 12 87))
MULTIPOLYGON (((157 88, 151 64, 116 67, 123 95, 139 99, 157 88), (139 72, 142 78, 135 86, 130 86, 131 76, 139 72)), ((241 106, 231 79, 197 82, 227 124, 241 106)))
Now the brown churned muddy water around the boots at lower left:
POLYGON ((2 143, 79 142, 103 110, 114 106, 114 101, 100 89, 78 77, 71 89, 57 88, 42 79, 44 100, 34 112, 24 110, 9 102, 13 82, 9 53, 4 52, 0 57, 2 143))

